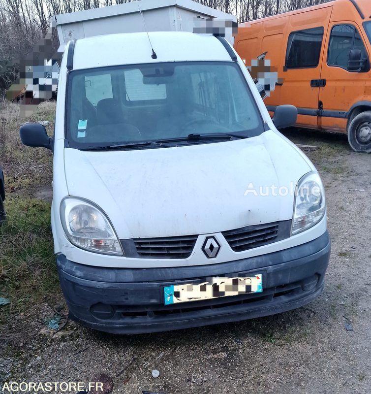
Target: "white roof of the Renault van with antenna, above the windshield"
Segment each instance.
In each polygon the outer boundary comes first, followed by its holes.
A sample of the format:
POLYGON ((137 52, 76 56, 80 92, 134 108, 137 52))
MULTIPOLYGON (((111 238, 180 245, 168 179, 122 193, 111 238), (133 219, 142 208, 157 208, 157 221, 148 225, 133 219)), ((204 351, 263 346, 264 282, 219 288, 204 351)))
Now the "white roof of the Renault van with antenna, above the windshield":
POLYGON ((187 32, 107 34, 78 39, 73 69, 183 61, 232 61, 223 44, 211 34, 187 32))

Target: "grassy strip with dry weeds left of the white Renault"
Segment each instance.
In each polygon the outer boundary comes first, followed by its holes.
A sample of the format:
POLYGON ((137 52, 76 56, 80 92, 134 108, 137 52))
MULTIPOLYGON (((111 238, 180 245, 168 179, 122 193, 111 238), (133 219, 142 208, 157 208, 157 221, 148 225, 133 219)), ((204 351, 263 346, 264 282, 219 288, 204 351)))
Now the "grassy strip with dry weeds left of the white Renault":
POLYGON ((46 129, 52 134, 54 114, 55 103, 44 102, 29 119, 22 119, 18 104, 0 102, 0 164, 5 175, 7 213, 0 227, 0 297, 11 299, 10 306, 0 308, 2 317, 60 292, 50 203, 33 197, 38 188, 51 182, 52 154, 24 146, 19 137, 24 122, 48 121, 46 129))

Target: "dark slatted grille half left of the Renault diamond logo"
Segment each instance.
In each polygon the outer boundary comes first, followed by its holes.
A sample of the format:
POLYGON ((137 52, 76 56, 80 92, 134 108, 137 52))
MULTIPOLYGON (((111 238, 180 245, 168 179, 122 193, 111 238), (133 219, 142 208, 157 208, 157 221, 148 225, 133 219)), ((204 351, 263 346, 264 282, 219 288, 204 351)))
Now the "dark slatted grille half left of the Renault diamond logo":
POLYGON ((193 251, 197 235, 164 238, 137 238, 134 244, 139 257, 146 259, 186 259, 193 251))

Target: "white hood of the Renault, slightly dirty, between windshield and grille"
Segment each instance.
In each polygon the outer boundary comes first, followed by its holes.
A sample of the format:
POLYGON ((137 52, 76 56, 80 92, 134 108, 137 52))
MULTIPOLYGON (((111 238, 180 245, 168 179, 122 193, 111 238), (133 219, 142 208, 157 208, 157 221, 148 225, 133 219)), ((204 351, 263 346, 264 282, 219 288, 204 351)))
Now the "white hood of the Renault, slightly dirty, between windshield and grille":
POLYGON ((255 196, 290 187, 311 167, 284 138, 253 138, 131 151, 65 148, 68 192, 106 212, 121 239, 196 235, 289 220, 293 196, 255 196), (249 188, 250 190, 250 188, 249 188))

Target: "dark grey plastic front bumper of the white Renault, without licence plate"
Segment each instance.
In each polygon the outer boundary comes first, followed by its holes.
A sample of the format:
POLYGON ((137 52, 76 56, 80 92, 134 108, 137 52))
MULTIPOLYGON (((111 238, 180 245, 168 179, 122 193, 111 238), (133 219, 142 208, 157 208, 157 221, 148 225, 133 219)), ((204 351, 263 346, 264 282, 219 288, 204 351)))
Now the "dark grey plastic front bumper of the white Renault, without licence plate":
POLYGON ((228 263, 173 268, 104 268, 57 256, 70 318, 106 332, 134 334, 199 327, 273 315, 319 296, 330 258, 326 231, 306 244, 228 263), (263 275, 263 292, 175 305, 163 287, 211 276, 263 275))

